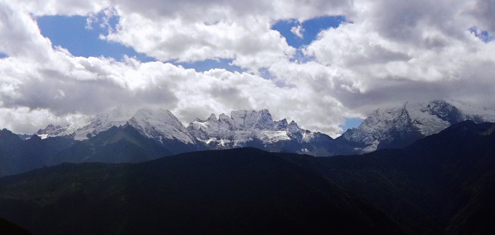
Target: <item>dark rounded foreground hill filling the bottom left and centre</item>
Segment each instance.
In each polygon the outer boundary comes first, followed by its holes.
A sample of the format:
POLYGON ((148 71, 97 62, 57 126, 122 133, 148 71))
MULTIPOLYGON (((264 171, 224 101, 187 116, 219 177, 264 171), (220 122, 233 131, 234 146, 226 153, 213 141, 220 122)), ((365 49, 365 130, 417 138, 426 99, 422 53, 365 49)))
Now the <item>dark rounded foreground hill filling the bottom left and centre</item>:
POLYGON ((362 197, 253 148, 6 176, 0 216, 39 235, 404 233, 362 197))

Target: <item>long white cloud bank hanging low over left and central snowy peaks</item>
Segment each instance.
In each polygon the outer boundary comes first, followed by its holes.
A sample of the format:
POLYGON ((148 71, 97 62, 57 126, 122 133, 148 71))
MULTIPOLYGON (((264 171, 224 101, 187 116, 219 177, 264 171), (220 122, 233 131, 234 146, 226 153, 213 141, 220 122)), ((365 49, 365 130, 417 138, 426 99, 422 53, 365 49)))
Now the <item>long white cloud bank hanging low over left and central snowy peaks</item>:
MULTIPOLYGON (((23 20, 19 25, 30 28, 36 23, 23 20)), ((31 42, 21 43, 29 45, 31 42)), ((194 117, 208 117, 210 113, 229 114, 232 110, 263 108, 269 109, 275 118, 316 120, 305 108, 308 102, 317 104, 320 100, 306 95, 311 91, 277 87, 274 81, 249 73, 224 69, 196 72, 171 63, 143 63, 132 58, 116 61, 74 57, 59 47, 39 48, 39 51, 42 52, 40 57, 0 59, 2 109, 11 110, 16 118, 24 115, 23 121, 18 122, 22 125, 15 124, 15 118, 5 118, 1 123, 14 132, 31 133, 43 127, 39 126, 40 122, 60 123, 67 115, 92 115, 122 105, 127 109, 163 107, 185 124, 194 117), (16 107, 23 107, 23 112, 16 107), (43 115, 47 117, 35 121, 43 115), (32 123, 25 125, 27 122, 32 123)), ((327 102, 326 99, 321 100, 327 102)), ((9 117, 8 114, 5 117, 9 117)), ((325 122, 328 121, 327 118, 325 122)), ((339 132, 335 125, 328 127, 321 123, 300 124, 306 128, 319 127, 315 130, 327 133, 339 132)))

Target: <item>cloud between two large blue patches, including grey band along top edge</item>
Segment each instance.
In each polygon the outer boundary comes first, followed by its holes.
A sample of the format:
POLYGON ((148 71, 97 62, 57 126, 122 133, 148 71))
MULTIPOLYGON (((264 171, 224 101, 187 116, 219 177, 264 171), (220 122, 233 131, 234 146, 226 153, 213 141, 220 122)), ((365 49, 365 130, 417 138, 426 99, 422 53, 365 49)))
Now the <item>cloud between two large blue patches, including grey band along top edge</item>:
POLYGON ((10 3, 35 15, 116 13, 119 24, 108 35, 102 35, 103 39, 133 47, 161 61, 233 59, 233 64, 252 71, 294 54, 294 48, 287 45, 280 33, 270 29, 273 20, 342 14, 350 5, 346 0, 21 0, 10 3))

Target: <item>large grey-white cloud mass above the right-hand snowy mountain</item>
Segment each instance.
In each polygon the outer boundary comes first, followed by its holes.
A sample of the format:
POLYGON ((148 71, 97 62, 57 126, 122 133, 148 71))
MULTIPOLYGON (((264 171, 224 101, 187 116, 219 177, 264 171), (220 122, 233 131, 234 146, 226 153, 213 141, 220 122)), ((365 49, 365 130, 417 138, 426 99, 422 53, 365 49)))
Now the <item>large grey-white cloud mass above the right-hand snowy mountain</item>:
POLYGON ((486 92, 486 102, 493 100, 484 89, 493 87, 493 79, 482 74, 495 68, 495 45, 469 32, 484 21, 469 13, 474 2, 355 3, 360 11, 353 23, 323 31, 304 48, 319 63, 336 67, 340 87, 350 92, 335 97, 346 107, 362 106, 362 113, 370 104, 480 100, 476 89, 486 92))

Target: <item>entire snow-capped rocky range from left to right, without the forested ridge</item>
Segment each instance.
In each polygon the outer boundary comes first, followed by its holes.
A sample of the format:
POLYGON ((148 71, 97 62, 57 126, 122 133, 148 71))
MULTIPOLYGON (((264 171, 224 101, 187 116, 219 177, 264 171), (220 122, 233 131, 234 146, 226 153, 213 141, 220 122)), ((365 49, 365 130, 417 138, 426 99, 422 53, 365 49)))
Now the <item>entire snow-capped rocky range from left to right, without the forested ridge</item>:
POLYGON ((266 109, 232 111, 230 117, 220 114, 217 118, 211 114, 205 120, 196 118, 187 127, 164 109, 141 109, 133 116, 114 110, 95 117, 80 118, 66 127, 50 124, 36 134, 42 138, 69 136, 83 140, 112 126, 130 125, 143 136, 169 148, 189 146, 187 151, 249 146, 329 156, 404 147, 466 119, 495 121, 495 111, 480 111, 473 105, 455 101, 406 103, 400 107, 373 111, 359 127, 348 129, 335 140, 326 134, 302 129, 295 121, 273 120, 266 109))

